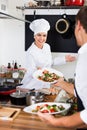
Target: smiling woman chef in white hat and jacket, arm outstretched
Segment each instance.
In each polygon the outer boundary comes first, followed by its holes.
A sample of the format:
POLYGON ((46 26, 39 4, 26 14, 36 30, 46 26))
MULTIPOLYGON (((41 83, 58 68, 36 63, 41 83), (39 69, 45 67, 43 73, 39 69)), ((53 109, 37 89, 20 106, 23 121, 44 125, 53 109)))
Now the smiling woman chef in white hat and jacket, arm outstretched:
POLYGON ((25 89, 41 89, 49 88, 49 83, 44 83, 33 78, 33 73, 37 69, 43 67, 51 67, 54 65, 64 64, 75 60, 74 56, 67 55, 63 58, 52 60, 51 49, 46 43, 47 33, 50 30, 50 24, 45 19, 37 19, 31 22, 30 29, 34 32, 34 42, 27 50, 27 72, 22 80, 21 88, 25 89))

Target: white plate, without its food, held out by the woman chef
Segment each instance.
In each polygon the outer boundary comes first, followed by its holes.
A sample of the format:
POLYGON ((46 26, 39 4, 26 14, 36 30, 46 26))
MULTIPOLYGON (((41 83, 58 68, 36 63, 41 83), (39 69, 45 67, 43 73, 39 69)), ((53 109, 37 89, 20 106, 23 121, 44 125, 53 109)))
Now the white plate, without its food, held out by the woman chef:
MULTIPOLYGON (((34 79, 37 79, 37 80, 42 81, 42 82, 46 82, 46 81, 43 81, 43 80, 38 79, 38 76, 41 76, 44 70, 47 70, 47 71, 49 71, 50 73, 55 73, 56 75, 58 75, 58 76, 60 76, 60 77, 63 77, 63 74, 62 74, 60 71, 57 71, 57 70, 52 69, 52 68, 43 68, 43 69, 37 70, 37 71, 35 71, 35 72, 33 73, 34 79)), ((53 81, 53 82, 46 82, 46 83, 56 83, 56 82, 57 82, 57 80, 55 80, 55 81, 53 81)))

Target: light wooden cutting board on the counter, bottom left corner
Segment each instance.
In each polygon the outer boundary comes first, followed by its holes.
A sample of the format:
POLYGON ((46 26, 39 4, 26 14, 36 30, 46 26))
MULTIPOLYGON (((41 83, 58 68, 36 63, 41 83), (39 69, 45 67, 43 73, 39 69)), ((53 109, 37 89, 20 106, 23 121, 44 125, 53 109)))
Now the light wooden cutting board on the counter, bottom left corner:
POLYGON ((20 113, 20 108, 0 107, 0 120, 12 121, 20 113))

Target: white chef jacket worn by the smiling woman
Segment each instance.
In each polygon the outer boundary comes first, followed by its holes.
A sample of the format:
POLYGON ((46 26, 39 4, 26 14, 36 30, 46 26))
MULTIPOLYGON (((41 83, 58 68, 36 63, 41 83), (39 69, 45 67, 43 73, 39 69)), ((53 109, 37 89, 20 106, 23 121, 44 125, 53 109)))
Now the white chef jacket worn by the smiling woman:
POLYGON ((50 83, 34 79, 33 73, 37 70, 37 68, 51 67, 52 65, 60 65, 66 63, 65 57, 57 57, 54 59, 54 61, 52 60, 51 49, 47 43, 44 43, 42 49, 38 48, 34 43, 32 43, 32 45, 28 48, 26 55, 27 72, 22 80, 22 88, 49 88, 50 83))

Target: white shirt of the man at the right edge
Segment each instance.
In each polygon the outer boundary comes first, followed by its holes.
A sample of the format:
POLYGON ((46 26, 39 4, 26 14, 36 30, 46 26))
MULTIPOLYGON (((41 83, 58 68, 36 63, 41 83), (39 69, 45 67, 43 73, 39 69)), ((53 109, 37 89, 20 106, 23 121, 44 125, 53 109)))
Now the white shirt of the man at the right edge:
POLYGON ((87 124, 87 43, 78 51, 75 87, 85 108, 80 112, 80 117, 87 124))

